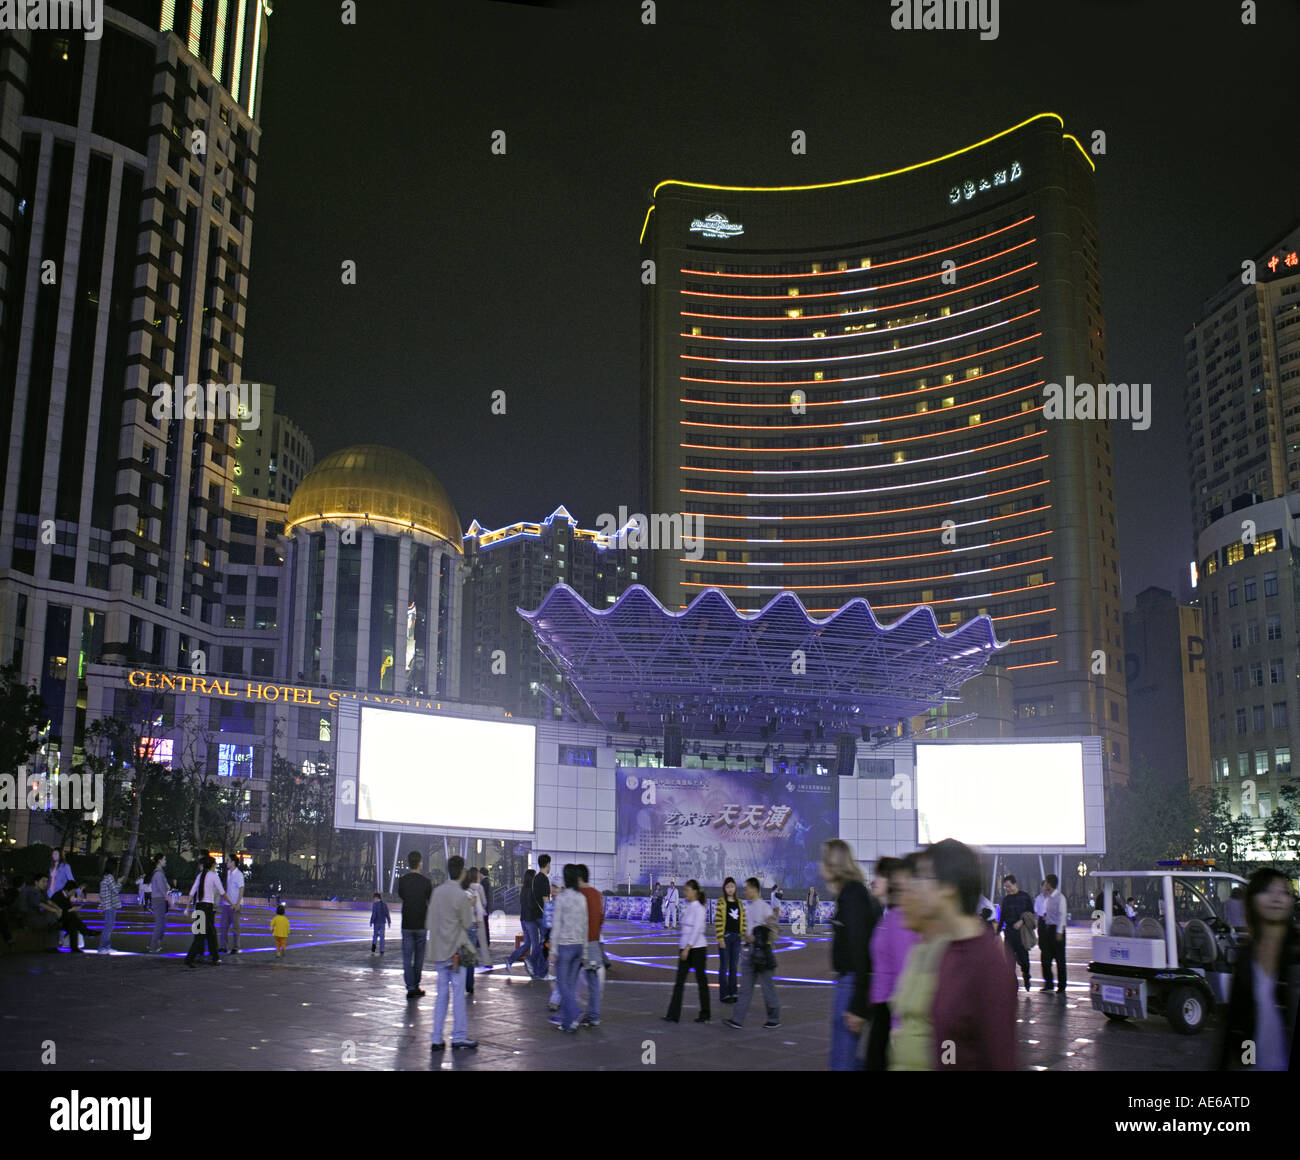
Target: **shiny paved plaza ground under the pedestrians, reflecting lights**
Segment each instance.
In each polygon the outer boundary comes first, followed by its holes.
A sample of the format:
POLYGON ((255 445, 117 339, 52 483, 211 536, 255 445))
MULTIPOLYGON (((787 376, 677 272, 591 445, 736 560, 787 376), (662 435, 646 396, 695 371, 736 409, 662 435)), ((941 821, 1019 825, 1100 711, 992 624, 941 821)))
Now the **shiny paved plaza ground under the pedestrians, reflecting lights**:
MULTIPOLYGON (((98 934, 98 916, 86 908, 98 934)), ((610 922, 615 965, 601 1001, 599 1027, 564 1035, 547 1022, 550 987, 512 971, 478 973, 469 1008, 477 1051, 429 1051, 434 981, 408 1003, 396 926, 385 956, 370 955, 365 913, 291 909, 285 960, 270 943, 270 913, 246 908, 242 952, 220 966, 183 966, 188 927, 173 913, 168 949, 144 955, 152 919, 126 908, 109 956, 61 952, 0 957, 0 1069, 42 1068, 55 1044, 56 1065, 75 1070, 824 1070, 831 991, 829 932, 783 935, 777 944, 781 1026, 763 1030, 760 1001, 744 1030, 724 1027, 731 1009, 716 1003, 712 1022, 690 1022, 694 979, 682 1022, 660 1020, 668 1005, 676 935, 638 922, 610 922)), ((493 929, 500 962, 517 919, 493 929)), ((94 947, 95 940, 91 940, 94 947)), ((1063 996, 1020 991, 1020 1064, 1034 1070, 1201 1070, 1214 1027, 1199 1036, 1173 1033, 1162 1020, 1110 1023, 1087 1001, 1087 927, 1070 934, 1070 988, 1063 996)), ((710 956, 710 982, 716 982, 710 956)), ((1037 981, 1035 982, 1037 986, 1037 981)), ((759 996, 755 995, 755 1000, 759 996)), ((446 1036, 450 1039, 450 1013, 446 1036)))

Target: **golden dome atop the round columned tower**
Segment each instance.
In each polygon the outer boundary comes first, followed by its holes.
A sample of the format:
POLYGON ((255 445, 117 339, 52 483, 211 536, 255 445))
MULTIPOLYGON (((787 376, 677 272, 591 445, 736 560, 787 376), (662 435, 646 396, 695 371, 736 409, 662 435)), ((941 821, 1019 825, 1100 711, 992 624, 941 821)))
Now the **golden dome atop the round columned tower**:
POLYGON ((393 447, 364 443, 321 459, 289 501, 285 531, 322 518, 413 528, 462 550, 460 519, 442 484, 393 447))

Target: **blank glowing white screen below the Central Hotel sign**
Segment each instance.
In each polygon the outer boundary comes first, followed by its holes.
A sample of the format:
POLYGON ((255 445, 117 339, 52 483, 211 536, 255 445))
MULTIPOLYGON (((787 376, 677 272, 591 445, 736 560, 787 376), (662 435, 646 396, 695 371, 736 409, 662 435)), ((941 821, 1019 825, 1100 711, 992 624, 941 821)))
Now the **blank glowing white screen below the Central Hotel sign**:
POLYGON ((356 817, 533 828, 536 727, 361 709, 356 817))

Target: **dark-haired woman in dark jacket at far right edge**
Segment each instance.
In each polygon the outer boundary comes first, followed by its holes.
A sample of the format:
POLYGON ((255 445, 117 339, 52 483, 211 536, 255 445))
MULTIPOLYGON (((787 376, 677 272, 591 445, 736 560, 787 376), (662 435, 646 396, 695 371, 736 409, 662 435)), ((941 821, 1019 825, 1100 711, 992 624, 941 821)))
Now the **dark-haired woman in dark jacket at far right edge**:
POLYGON ((1249 942, 1238 948, 1222 1048, 1222 1072, 1300 1070, 1300 931, 1290 879, 1262 866, 1245 887, 1249 942))

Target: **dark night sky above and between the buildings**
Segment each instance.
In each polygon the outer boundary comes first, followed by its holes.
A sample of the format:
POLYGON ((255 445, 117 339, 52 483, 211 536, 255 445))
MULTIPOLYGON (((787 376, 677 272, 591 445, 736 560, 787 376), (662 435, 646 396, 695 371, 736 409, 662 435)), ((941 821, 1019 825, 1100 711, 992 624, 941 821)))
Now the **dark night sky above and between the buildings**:
POLYGON ((244 378, 317 456, 399 447, 463 524, 636 510, 655 182, 861 177, 1056 112, 1106 133, 1109 372, 1152 384, 1150 429, 1117 425, 1124 603, 1186 583, 1183 336, 1300 218, 1294 0, 1256 27, 1236 3, 1002 0, 991 42, 894 31, 887 0, 660 0, 654 26, 641 0, 358 8, 277 0, 263 90, 244 378))

